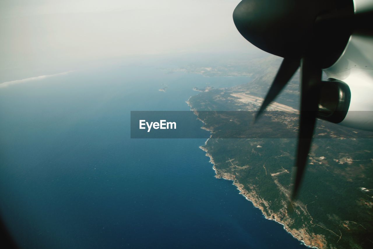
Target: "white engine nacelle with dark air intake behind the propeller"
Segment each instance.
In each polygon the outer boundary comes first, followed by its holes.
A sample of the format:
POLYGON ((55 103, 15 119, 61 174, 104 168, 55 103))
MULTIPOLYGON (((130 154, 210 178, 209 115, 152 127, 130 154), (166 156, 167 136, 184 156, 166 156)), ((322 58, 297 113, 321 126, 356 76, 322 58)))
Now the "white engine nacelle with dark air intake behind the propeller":
MULTIPOLYGON (((372 8, 373 1, 354 0, 355 13, 364 13, 372 8)), ((330 81, 323 82, 325 84, 321 86, 319 118, 373 131, 372 55, 373 37, 352 33, 341 57, 331 67, 323 69, 330 81), (326 100, 328 93, 333 103, 326 100)))

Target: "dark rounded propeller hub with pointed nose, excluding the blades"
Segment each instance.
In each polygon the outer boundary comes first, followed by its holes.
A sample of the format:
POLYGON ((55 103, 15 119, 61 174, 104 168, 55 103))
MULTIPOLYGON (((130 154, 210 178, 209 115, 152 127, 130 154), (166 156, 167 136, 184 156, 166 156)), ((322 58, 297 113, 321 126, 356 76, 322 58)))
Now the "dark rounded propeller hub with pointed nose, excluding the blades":
POLYGON ((258 48, 283 58, 311 55, 325 68, 339 58, 351 35, 351 20, 341 23, 329 18, 316 23, 330 13, 353 16, 353 1, 242 0, 233 21, 239 33, 258 48))

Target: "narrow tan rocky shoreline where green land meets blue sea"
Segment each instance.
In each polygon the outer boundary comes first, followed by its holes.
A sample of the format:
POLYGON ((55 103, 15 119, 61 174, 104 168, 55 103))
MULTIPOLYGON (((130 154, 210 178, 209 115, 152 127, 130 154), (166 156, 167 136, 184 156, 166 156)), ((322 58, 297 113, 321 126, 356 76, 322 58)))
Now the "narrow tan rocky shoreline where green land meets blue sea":
MULTIPOLYGON (((190 98, 191 98, 191 97, 189 97, 189 99, 190 99, 190 98)), ((191 104, 190 104, 190 102, 189 102, 189 99, 188 99, 187 101, 185 101, 186 104, 188 104, 188 106, 191 108, 191 111, 194 111, 194 114, 197 116, 197 119, 200 120, 203 124, 205 124, 205 122, 204 122, 203 120, 201 120, 201 119, 198 117, 198 111, 192 108, 192 106, 191 106, 191 104)), ((247 190, 245 190, 244 185, 240 184, 239 182, 237 182, 237 181, 235 180, 235 176, 234 176, 234 175, 231 175, 231 174, 224 174, 224 173, 223 173, 223 174, 220 174, 220 173, 218 172, 218 170, 216 169, 216 167, 215 167, 216 163, 215 163, 215 161, 214 161, 214 158, 211 156, 211 154, 209 153, 209 151, 208 151, 206 148, 204 148, 204 146, 207 145, 207 142, 209 141, 209 139, 212 137, 212 133, 213 133, 213 131, 210 130, 210 129, 207 129, 206 127, 201 127, 201 129, 208 130, 208 131, 211 133, 210 137, 206 140, 205 144, 202 145, 202 146, 200 146, 199 148, 200 148, 201 150, 203 150, 204 152, 206 152, 206 156, 210 158, 210 161, 209 161, 209 162, 213 164, 212 169, 213 169, 214 172, 215 172, 215 178, 217 178, 217 179, 219 179, 219 178, 223 178, 223 179, 226 179, 226 180, 228 180, 228 181, 232 181, 232 184, 235 185, 235 187, 236 187, 237 190, 239 191, 239 194, 241 194, 242 196, 244 196, 246 200, 250 201, 250 202, 253 204, 254 207, 258 208, 258 209, 261 211, 261 213, 262 213, 262 215, 264 216, 265 219, 268 219, 268 220, 271 220, 271 221, 275 221, 275 222, 281 224, 282 227, 283 227, 283 229, 284 229, 287 233, 291 234, 291 236, 292 236, 293 238, 297 239, 297 240, 298 240, 300 243, 302 243, 303 245, 307 246, 308 248, 316 248, 316 249, 320 249, 320 248, 322 248, 322 247, 324 246, 324 244, 323 244, 322 242, 320 242, 320 241, 319 241, 319 242, 321 243, 321 247, 317 247, 317 246, 311 245, 311 244, 312 244, 312 243, 311 243, 312 238, 308 238, 308 241, 307 241, 308 243, 305 242, 304 239, 302 238, 302 235, 305 236, 305 234, 304 234, 305 231, 298 231, 298 230, 295 230, 295 229, 291 230, 291 229, 288 227, 288 225, 286 225, 286 224, 284 224, 284 223, 282 223, 282 222, 276 220, 276 216, 277 216, 277 215, 276 215, 275 213, 272 214, 272 216, 275 217, 275 218, 270 218, 270 217, 268 217, 268 216, 266 215, 266 213, 264 213, 263 208, 260 208, 260 206, 258 205, 259 200, 256 199, 254 196, 250 195, 249 192, 248 192, 247 190), (299 236, 299 237, 297 237, 297 236, 299 236)), ((255 191, 254 191, 254 194, 255 194, 255 191)), ((313 234, 313 235, 314 235, 314 234, 313 234)), ((317 238, 317 236, 314 236, 314 237, 317 238)), ((317 238, 317 239, 321 239, 321 238, 317 238)), ((314 242, 314 243, 316 243, 316 242, 314 242)))

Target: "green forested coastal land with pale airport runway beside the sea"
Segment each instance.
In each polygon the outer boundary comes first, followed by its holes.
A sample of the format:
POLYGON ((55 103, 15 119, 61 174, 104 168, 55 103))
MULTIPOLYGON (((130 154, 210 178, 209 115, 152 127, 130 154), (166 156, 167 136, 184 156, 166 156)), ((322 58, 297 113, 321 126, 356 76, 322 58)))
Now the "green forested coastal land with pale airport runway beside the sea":
POLYGON ((272 79, 273 73, 262 72, 248 84, 210 89, 187 101, 203 129, 211 131, 201 149, 210 157, 216 177, 233 180, 267 219, 281 223, 305 245, 371 248, 373 134, 318 120, 300 195, 289 210, 297 141, 281 133, 297 134, 298 82, 293 80, 270 105, 257 122, 260 128, 247 125, 272 79), (246 111, 245 117, 237 111, 246 111), (259 130, 280 135, 240 135, 259 130))

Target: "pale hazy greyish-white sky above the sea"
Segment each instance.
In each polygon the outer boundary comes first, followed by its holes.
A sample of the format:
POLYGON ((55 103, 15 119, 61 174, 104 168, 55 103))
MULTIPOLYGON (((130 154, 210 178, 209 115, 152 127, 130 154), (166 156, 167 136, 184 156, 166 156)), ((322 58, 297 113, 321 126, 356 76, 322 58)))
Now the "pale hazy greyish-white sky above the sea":
POLYGON ((248 52, 253 46, 232 20, 239 1, 1 0, 0 73, 58 73, 128 55, 248 52))

